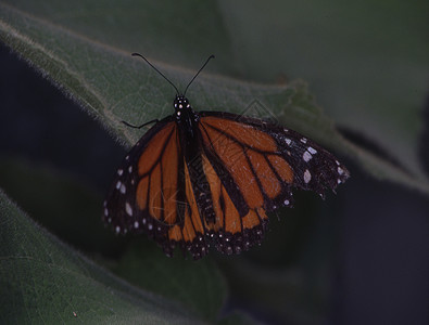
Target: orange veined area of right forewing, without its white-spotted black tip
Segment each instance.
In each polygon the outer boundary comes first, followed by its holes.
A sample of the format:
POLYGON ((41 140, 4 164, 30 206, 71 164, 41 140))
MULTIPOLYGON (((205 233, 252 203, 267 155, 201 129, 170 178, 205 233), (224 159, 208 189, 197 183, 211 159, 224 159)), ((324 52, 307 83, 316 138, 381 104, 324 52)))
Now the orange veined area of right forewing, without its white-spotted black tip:
POLYGON ((217 116, 202 118, 201 128, 207 152, 225 165, 250 209, 272 210, 275 202, 285 204, 279 196, 282 187, 290 187, 294 173, 275 138, 251 125, 217 116))

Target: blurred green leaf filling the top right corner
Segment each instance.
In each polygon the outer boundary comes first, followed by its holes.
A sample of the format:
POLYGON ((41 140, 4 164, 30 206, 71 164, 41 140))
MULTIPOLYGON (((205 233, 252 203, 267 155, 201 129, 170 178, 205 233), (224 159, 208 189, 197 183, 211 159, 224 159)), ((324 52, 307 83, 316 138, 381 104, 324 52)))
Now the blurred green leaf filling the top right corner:
POLYGON ((365 134, 422 178, 428 1, 220 3, 232 43, 243 53, 244 76, 305 78, 338 123, 365 134))

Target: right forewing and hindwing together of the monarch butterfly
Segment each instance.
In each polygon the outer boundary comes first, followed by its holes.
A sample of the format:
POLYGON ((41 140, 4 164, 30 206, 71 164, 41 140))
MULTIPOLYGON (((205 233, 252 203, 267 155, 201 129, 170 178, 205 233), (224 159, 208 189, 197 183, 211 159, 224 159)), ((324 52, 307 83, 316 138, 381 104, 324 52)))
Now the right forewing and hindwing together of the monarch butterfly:
POLYGON ((204 173, 216 211, 215 222, 204 222, 224 252, 260 243, 265 212, 291 206, 293 187, 323 196, 349 178, 333 155, 294 131, 229 113, 200 115, 204 173))

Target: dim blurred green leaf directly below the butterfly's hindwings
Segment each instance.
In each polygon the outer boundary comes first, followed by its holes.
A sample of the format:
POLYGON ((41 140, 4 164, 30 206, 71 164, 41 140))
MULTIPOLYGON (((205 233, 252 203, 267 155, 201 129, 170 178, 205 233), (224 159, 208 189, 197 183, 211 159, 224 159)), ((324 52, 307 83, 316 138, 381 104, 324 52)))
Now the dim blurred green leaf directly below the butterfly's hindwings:
POLYGON ((227 296, 226 282, 217 265, 210 258, 186 260, 180 251, 166 259, 159 247, 147 244, 135 245, 113 271, 141 288, 180 301, 195 314, 216 321, 227 296))

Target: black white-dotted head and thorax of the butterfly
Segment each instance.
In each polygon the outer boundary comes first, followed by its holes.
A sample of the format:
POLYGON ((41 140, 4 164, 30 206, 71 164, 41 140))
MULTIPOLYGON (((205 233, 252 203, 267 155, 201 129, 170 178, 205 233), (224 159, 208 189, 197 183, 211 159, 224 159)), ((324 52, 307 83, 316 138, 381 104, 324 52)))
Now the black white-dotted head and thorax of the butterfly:
POLYGON ((200 115, 192 109, 188 99, 184 95, 176 95, 173 105, 176 121, 181 125, 180 129, 186 138, 193 139, 195 136, 195 129, 200 120, 200 115))

